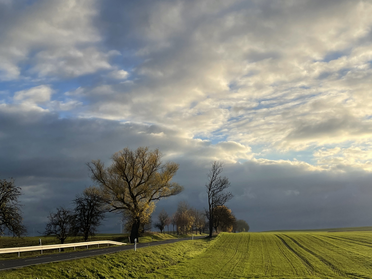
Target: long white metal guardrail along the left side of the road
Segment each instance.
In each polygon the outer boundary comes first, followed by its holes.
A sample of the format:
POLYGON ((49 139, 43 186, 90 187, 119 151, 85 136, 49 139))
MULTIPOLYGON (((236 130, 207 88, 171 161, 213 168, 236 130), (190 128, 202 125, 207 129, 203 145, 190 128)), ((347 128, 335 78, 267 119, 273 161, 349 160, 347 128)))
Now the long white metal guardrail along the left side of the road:
POLYGON ((86 246, 88 249, 89 245, 97 245, 99 247, 99 244, 114 244, 114 245, 123 245, 126 243, 122 242, 116 242, 116 241, 111 241, 111 240, 100 240, 100 241, 89 241, 89 242, 77 242, 77 243, 66 243, 66 244, 54 244, 54 245, 39 245, 39 246, 27 246, 27 247, 12 247, 12 248, 2 248, 0 249, 0 254, 4 253, 17 253, 18 252, 18 257, 20 252, 26 252, 26 251, 41 251, 41 254, 43 253, 43 250, 47 249, 60 249, 61 248, 67 248, 67 247, 75 247, 76 246, 86 246))

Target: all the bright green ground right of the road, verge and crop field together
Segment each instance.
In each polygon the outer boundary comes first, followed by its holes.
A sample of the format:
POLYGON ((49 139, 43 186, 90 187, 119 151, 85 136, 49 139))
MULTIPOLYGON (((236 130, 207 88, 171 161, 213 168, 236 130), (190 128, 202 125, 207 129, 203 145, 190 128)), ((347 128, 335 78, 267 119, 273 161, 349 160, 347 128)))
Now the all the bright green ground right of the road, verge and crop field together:
POLYGON ((0 278, 372 278, 372 233, 222 233, 137 252, 42 264, 0 278))

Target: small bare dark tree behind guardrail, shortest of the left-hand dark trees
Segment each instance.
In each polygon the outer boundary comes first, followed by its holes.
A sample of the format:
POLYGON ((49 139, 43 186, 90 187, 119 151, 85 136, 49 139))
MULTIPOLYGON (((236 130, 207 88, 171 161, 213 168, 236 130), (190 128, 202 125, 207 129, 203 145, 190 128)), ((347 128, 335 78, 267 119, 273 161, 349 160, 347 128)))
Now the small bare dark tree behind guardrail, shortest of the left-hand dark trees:
MULTIPOLYGON (((67 237, 73 235, 74 215, 71 209, 64 206, 57 207, 57 213, 49 213, 49 222, 45 226, 44 235, 55 234, 63 244, 67 237)), ((62 248, 61 251, 64 249, 62 248)))

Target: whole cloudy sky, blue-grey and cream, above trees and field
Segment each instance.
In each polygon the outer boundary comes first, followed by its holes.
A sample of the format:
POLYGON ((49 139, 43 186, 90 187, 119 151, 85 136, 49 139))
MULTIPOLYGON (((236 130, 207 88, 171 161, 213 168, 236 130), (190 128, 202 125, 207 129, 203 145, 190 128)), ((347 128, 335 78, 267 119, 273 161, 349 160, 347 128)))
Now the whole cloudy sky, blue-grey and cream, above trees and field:
MULTIPOLYGON (((252 231, 372 225, 372 1, 0 0, 0 179, 24 224, 87 186, 86 163, 159 148, 205 208, 252 231)), ((120 232, 108 215, 101 232, 120 232)))

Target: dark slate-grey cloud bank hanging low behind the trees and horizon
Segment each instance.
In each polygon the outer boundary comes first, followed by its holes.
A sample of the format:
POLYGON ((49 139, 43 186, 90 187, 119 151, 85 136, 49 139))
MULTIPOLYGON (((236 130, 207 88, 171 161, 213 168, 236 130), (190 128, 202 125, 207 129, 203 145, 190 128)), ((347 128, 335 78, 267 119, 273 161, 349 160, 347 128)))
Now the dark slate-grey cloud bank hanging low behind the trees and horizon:
MULTIPOLYGON (((101 158, 110 163, 112 153, 123 147, 150 144, 167 156, 182 150, 171 160, 180 163, 175 181, 185 186, 179 196, 158 202, 157 212, 176 209, 185 199, 203 210, 207 158, 195 160, 194 147, 172 139, 154 139, 151 133, 165 131, 157 126, 119 124, 98 119, 60 119, 52 113, 0 114, 1 178, 15 177, 22 187, 25 224, 41 231, 49 211, 71 206, 74 196, 91 185, 85 163, 101 158)), ((167 131, 166 131, 167 132, 167 131)), ((288 163, 265 165, 254 162, 229 164, 224 174, 231 180, 235 197, 228 203, 238 218, 246 219, 252 230, 284 228, 349 227, 368 225, 372 198, 365 172, 334 174, 308 171, 288 163)), ((105 232, 119 230, 118 215, 110 215, 105 232)))

